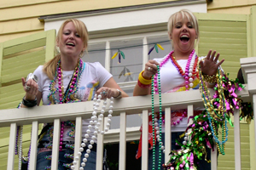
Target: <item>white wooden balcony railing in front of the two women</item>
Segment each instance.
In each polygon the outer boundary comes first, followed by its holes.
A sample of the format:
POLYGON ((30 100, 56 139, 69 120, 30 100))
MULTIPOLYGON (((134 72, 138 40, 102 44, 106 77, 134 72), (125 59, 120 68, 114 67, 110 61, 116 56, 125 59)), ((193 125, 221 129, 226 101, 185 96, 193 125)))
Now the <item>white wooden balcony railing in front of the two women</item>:
MULTIPOLYGON (((246 74, 247 85, 237 94, 244 101, 251 101, 255 106, 256 101, 256 58, 241 59, 241 66, 246 74), (254 75, 254 77, 253 77, 254 75), (250 80, 249 80, 250 79, 250 80), (254 83, 253 85, 251 85, 254 83)), ((154 96, 155 106, 159 106, 158 95, 154 96)), ((169 160, 171 151, 171 110, 188 109, 188 116, 193 115, 193 108, 203 107, 201 94, 199 90, 189 92, 177 92, 171 94, 162 94, 162 108, 166 111, 166 162, 169 160), (169 116, 169 117, 168 117, 169 116)), ((107 105, 108 108, 108 105, 107 105)), ((254 107, 255 108, 255 107, 254 107)), ((97 137, 97 162, 102 162, 103 144, 119 142, 119 169, 125 169, 126 141, 137 139, 140 135, 138 127, 126 128, 126 116, 132 114, 142 114, 143 124, 148 124, 148 111, 151 110, 151 96, 129 97, 125 99, 114 100, 113 116, 120 116, 120 127, 118 130, 110 130, 104 135, 98 134, 97 137)), ((93 111, 93 101, 80 102, 63 105, 46 105, 28 109, 10 109, 0 111, 0 127, 10 127, 9 135, 9 156, 8 170, 14 169, 15 160, 15 140, 16 128, 20 125, 32 124, 32 141, 30 155, 30 170, 36 169, 37 160, 37 141, 38 141, 38 123, 54 122, 52 169, 56 170, 58 165, 58 150, 60 125, 62 121, 75 120, 75 151, 79 151, 82 128, 82 119, 90 118, 93 111)), ((106 111, 106 115, 107 116, 106 111)), ((239 111, 235 111, 235 162, 236 170, 241 170, 241 147, 240 147, 240 124, 239 111)), ((104 127, 100 127, 102 130, 104 127)), ((256 132, 256 131, 255 131, 256 132)), ((256 136, 256 135, 255 135, 256 136)), ((78 164, 79 165, 79 164, 78 164)), ((76 169, 79 169, 79 166, 76 169)), ((148 126, 143 126, 143 156, 142 169, 148 169, 148 126)), ((212 170, 217 169, 217 154, 212 152, 212 170)), ((96 164, 96 170, 102 170, 102 163, 96 164)))

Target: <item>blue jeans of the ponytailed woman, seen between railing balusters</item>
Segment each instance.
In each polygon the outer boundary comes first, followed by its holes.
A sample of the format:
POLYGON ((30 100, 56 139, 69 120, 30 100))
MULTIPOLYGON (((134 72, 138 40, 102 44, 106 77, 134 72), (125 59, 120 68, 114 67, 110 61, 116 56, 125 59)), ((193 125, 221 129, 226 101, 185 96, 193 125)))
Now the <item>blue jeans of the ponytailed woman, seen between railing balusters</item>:
MULTIPOLYGON (((70 158, 65 158, 64 155, 65 154, 73 154, 73 150, 71 149, 66 149, 66 150, 62 150, 59 152, 59 162, 58 162, 58 170, 67 170, 69 168, 67 167, 63 167, 63 163, 72 163, 73 160, 70 158)), ((82 156, 81 156, 81 161, 84 158, 84 154, 86 153, 86 150, 84 150, 82 152, 82 156)), ((51 151, 44 151, 38 154, 38 158, 37 158, 37 170, 45 170, 45 167, 49 167, 51 164, 51 160, 47 160, 44 157, 45 156, 50 156, 51 155, 51 151)), ((81 167, 80 165, 76 165, 81 167)), ((96 151, 91 150, 89 157, 87 158, 87 161, 85 162, 85 167, 84 170, 96 170, 96 151)))

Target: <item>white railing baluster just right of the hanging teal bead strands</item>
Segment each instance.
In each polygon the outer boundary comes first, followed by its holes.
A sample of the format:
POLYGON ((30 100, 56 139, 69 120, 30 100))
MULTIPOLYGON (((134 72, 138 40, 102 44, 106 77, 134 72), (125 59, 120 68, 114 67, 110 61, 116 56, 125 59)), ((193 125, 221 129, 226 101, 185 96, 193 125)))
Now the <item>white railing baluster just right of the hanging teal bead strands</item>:
MULTIPOLYGON (((171 126, 171 108, 167 107, 165 110, 165 129, 170 129, 172 132, 171 126)), ((172 150, 172 133, 165 133, 165 163, 170 160, 170 152, 172 150)))

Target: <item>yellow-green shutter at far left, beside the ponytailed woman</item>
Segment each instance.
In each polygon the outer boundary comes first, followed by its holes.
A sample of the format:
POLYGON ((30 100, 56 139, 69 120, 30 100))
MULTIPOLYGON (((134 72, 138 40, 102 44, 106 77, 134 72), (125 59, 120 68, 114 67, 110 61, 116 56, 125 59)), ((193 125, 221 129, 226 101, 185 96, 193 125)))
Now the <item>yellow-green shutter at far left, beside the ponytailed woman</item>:
MULTIPOLYGON (((54 57, 55 30, 42 31, 28 37, 0 43, 0 109, 19 105, 25 92, 21 77, 35 71, 39 65, 54 57)), ((39 126, 39 132, 41 131, 39 126)), ((9 127, 0 128, 0 169, 7 168, 9 127)), ((23 154, 26 156, 31 141, 31 125, 23 126, 23 154)), ((15 156, 18 169, 18 156, 15 156)))

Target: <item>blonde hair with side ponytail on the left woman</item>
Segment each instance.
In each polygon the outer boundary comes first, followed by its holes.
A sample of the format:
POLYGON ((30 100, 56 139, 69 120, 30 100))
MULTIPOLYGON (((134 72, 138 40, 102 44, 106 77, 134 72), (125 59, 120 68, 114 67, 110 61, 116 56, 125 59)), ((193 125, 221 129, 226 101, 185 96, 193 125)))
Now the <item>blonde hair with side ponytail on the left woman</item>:
MULTIPOLYGON (((61 41, 61 35, 63 34, 63 29, 67 25, 67 23, 69 23, 69 22, 73 22, 73 25, 75 26, 77 33, 79 34, 82 41, 84 42, 84 48, 86 50, 87 46, 88 46, 89 35, 88 35, 87 28, 84 25, 84 22, 82 22, 81 20, 77 20, 77 19, 65 20, 62 23, 62 25, 60 27, 60 30, 57 33, 56 42, 61 41)), ((81 52, 81 54, 83 54, 83 52, 81 52)), ((50 59, 47 63, 44 64, 43 71, 49 77, 49 79, 51 79, 51 80, 53 80, 54 77, 55 77, 55 71, 56 71, 56 68, 57 68, 57 63, 60 59, 61 59, 61 54, 59 54, 57 52, 53 59, 50 59)))

